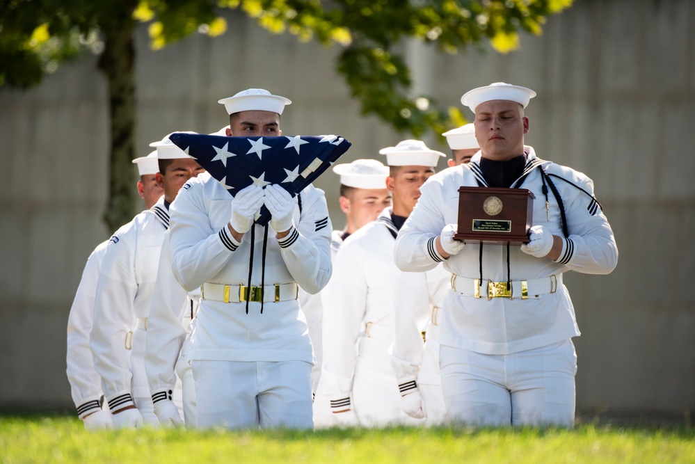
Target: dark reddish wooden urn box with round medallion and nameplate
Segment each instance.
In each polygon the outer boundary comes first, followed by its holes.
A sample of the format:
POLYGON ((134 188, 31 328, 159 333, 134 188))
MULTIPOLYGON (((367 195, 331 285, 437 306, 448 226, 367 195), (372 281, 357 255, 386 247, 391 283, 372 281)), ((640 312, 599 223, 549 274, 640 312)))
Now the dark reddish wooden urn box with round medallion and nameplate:
POLYGON ((534 198, 527 189, 460 187, 454 239, 466 243, 529 243, 534 198))

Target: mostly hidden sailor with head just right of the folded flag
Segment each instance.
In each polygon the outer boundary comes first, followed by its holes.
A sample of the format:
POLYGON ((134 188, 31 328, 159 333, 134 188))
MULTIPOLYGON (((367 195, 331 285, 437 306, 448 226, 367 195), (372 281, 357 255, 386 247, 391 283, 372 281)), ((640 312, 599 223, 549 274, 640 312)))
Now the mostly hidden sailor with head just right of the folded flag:
MULTIPOLYGON (((356 159, 351 163, 336 164, 333 172, 340 177, 340 209, 345 214, 345 227, 342 230, 334 230, 330 240, 331 257, 335 258, 336 253, 343 241, 362 226, 376 220, 384 208, 391 206, 391 192, 386 189, 386 177, 388 177, 388 167, 384 166, 376 159, 356 159)), ((330 287, 330 280, 328 285, 330 287)), ((325 289, 324 289, 325 291, 325 289)), ((323 293, 323 291, 321 291, 323 293)), ((330 294, 330 291, 329 291, 330 294)), ((330 409, 330 399, 321 391, 320 374, 322 353, 323 333, 323 305, 321 295, 312 295, 310 298, 303 298, 303 292, 299 293, 302 310, 307 315, 309 324, 309 335, 314 344, 317 366, 312 370, 312 381, 314 382, 314 427, 323 428, 337 424, 335 415, 330 409)), ((330 302, 327 302, 330 310, 330 302)))

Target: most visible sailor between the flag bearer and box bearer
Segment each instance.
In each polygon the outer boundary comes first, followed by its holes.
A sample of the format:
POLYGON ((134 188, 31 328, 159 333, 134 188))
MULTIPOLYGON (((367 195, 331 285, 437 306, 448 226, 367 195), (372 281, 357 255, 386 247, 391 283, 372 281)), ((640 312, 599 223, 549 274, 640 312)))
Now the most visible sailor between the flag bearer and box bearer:
MULTIPOLYGON (((420 197, 420 186, 445 154, 412 140, 380 153, 386 154, 390 166, 386 186, 393 194, 393 207, 344 241, 335 257, 330 292, 322 295, 321 384, 334 415, 346 425, 422 422, 401 409, 389 355, 394 339, 394 283, 401 272, 392 252, 399 228, 420 197)), ((414 300, 427 289, 421 285, 404 291, 404 298, 414 300)))

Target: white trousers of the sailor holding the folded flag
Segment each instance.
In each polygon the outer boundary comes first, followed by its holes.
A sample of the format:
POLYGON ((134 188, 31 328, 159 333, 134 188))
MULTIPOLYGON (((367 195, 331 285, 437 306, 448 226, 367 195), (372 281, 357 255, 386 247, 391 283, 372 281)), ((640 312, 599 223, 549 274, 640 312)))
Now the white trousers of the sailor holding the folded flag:
POLYGON ((312 429, 310 362, 194 360, 198 427, 312 429))

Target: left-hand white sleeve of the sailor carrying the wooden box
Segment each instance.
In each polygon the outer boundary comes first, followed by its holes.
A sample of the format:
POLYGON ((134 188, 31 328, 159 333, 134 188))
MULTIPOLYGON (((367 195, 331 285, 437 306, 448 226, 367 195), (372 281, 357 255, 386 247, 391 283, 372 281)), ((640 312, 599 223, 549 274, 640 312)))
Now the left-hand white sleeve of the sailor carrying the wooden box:
POLYGON ((447 225, 439 206, 441 184, 425 182, 420 191, 420 200, 417 200, 396 239, 394 259, 401 271, 429 271, 442 262, 434 245, 447 225))

